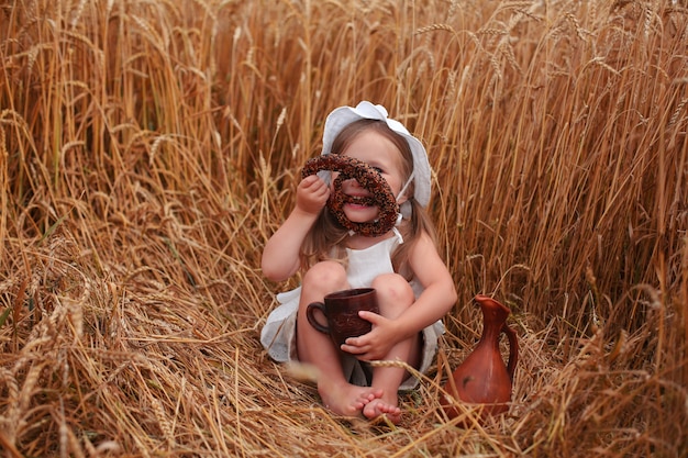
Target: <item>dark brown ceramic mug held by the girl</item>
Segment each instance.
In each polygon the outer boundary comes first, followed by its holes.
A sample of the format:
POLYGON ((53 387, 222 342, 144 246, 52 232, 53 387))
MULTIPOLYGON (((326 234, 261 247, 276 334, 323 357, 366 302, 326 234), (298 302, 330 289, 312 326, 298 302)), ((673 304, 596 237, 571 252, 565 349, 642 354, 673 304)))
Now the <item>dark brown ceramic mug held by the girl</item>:
POLYGON ((325 295, 324 302, 309 304, 306 316, 311 326, 323 334, 330 334, 332 340, 341 346, 348 337, 358 337, 373 328, 370 322, 358 316, 362 310, 379 313, 374 288, 355 288, 330 293, 325 295), (321 324, 315 319, 315 310, 325 315, 328 325, 321 324))

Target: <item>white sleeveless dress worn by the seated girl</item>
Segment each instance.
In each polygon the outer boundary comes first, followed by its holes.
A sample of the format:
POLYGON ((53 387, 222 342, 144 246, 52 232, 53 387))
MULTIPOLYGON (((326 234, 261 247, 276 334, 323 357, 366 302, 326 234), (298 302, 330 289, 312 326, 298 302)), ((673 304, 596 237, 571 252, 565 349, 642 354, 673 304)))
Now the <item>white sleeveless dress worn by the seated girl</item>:
MULTIPOLYGON (((386 238, 365 249, 346 248, 348 267, 346 270, 351 288, 370 287, 373 280, 381 273, 393 272, 391 253, 400 243, 400 236, 386 238)), ((411 280, 411 288, 415 297, 422 292, 420 282, 411 280)), ((279 362, 297 360, 296 321, 299 310, 301 287, 277 294, 279 305, 269 314, 260 333, 260 343, 268 355, 279 362)), ((437 350, 437 340, 444 334, 441 320, 423 329, 423 355, 421 373, 424 373, 437 350)), ((369 370, 353 355, 343 357, 344 376, 351 383, 362 387, 369 384, 369 370)), ((410 390, 418 384, 418 379, 409 377, 399 390, 410 390)))

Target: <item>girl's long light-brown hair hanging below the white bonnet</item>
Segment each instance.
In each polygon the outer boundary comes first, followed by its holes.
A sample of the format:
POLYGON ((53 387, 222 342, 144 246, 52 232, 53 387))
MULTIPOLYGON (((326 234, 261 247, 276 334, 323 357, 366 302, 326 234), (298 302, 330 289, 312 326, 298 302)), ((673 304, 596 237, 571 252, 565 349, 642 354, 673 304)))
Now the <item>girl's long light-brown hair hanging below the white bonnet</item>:
MULTIPOLYGON (((401 154, 401 171, 402 182, 406 182, 413 171, 413 155, 409 144, 389 126, 379 120, 358 120, 346 125, 332 143, 332 153, 340 154, 364 131, 375 130, 391 141, 401 154)), ((395 271, 403 275, 407 279, 411 279, 413 272, 408 267, 411 248, 418 241, 418 237, 425 233, 433 243, 436 243, 435 228, 428 215, 428 212, 413 199, 413 182, 404 191, 408 202, 412 208, 411 217, 404 219, 398 226, 398 231, 403 237, 403 244, 399 245, 392 253, 392 266, 395 271)), ((308 270, 311 266, 322 260, 335 260, 342 265, 347 265, 346 258, 346 238, 348 230, 342 226, 332 212, 325 206, 313 227, 309 231, 303 245, 301 246, 301 267, 308 270)))

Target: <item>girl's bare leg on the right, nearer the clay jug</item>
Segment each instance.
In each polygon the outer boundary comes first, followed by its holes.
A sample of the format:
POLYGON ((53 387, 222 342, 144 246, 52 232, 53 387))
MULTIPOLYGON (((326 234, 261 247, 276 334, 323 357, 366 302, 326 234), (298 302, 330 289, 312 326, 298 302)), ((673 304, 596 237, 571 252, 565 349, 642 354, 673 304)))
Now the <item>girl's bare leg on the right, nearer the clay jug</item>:
MULTIPOLYGON (((414 295, 411 287, 400 276, 384 275, 378 277, 373 287, 377 290, 380 314, 389 319, 396 319, 409 308, 414 295)), ((420 335, 402 340, 395 345, 385 360, 400 360, 412 367, 419 367, 421 359, 420 335)), ((363 407, 363 414, 367 418, 376 418, 387 415, 392 423, 401 420, 398 391, 408 371, 402 367, 375 367, 373 369, 373 388, 381 390, 381 396, 373 399, 363 407)))

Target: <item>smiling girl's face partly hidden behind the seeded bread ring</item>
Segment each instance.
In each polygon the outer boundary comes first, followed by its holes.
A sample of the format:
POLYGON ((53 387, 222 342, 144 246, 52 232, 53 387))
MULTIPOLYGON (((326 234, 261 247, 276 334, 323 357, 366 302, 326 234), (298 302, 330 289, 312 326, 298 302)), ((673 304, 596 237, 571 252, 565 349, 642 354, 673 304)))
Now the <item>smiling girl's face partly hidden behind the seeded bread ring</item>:
MULTIPOLYGON (((343 155, 363 160, 368 166, 377 169, 391 188, 395 196, 399 194, 403 186, 402 157, 395 144, 373 130, 366 130, 358 134, 348 146, 342 152, 343 155)), ((355 179, 342 182, 342 192, 352 197, 366 197, 370 191, 363 188, 355 179)), ((399 203, 406 200, 401 197, 399 203)), ((344 214, 354 223, 367 223, 374 221, 379 209, 359 203, 344 204, 344 214)))

